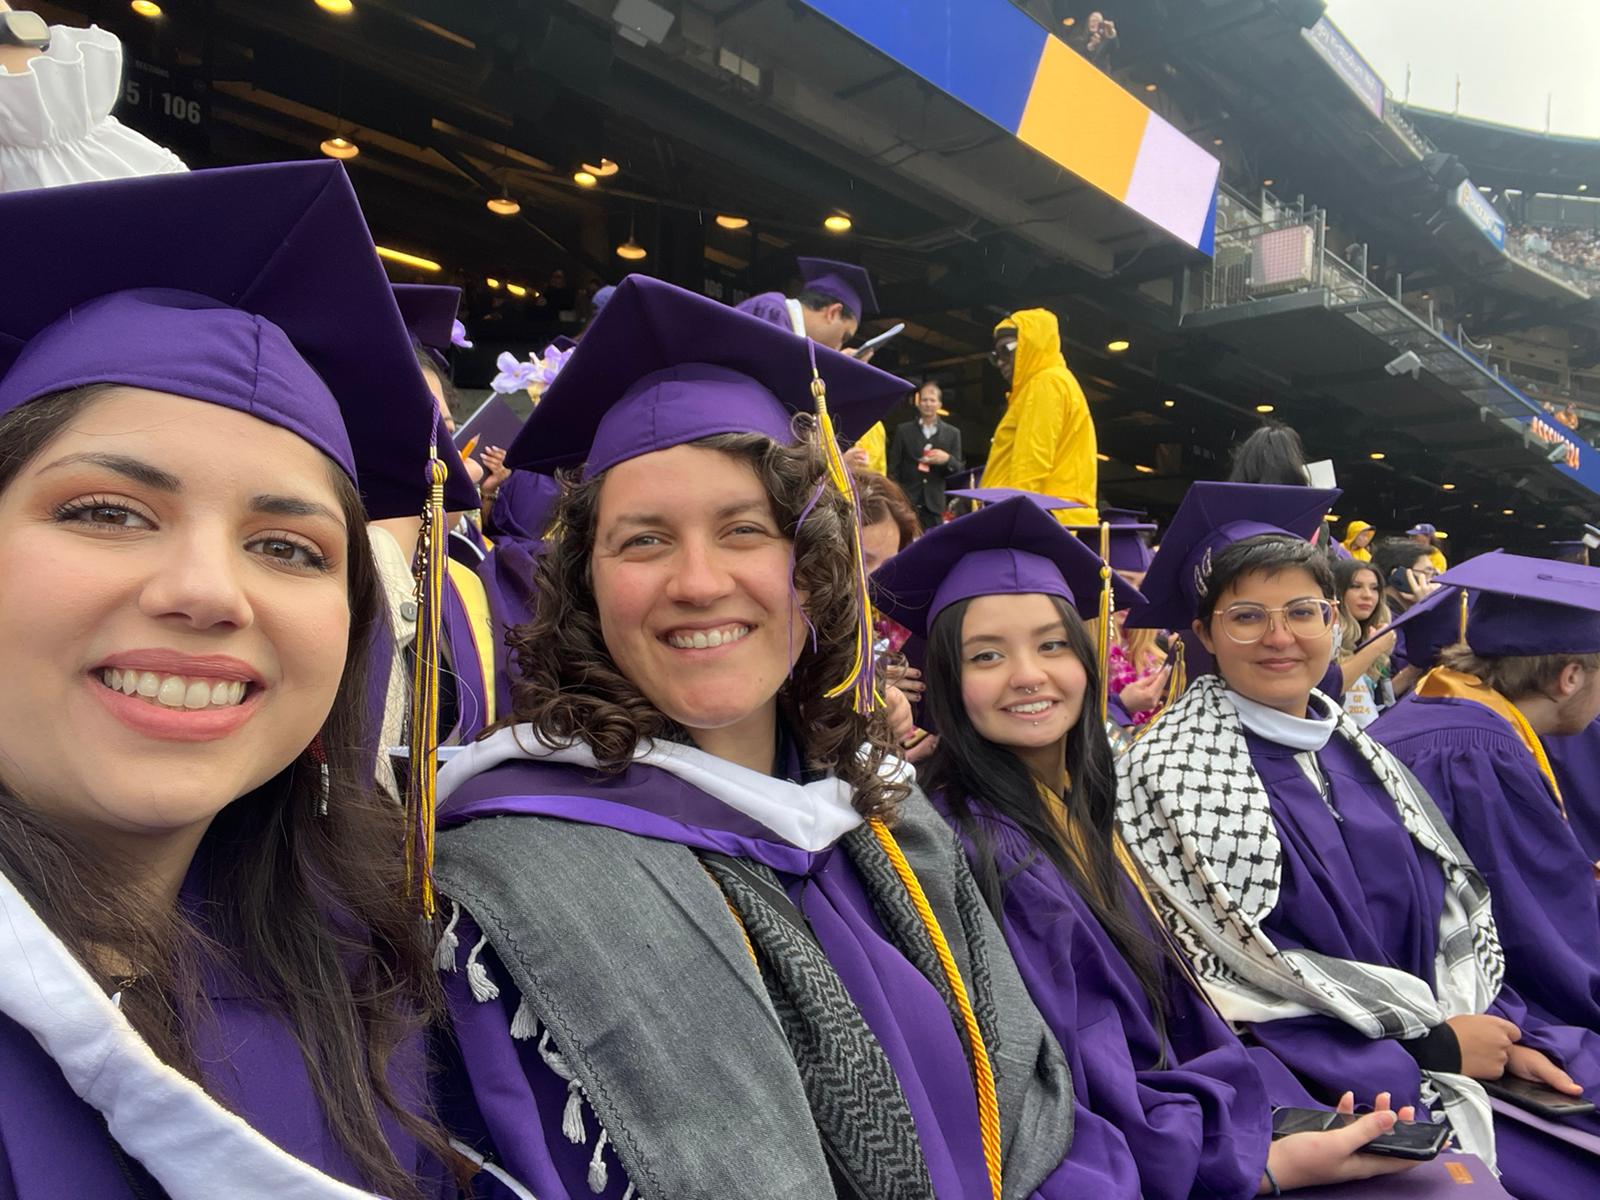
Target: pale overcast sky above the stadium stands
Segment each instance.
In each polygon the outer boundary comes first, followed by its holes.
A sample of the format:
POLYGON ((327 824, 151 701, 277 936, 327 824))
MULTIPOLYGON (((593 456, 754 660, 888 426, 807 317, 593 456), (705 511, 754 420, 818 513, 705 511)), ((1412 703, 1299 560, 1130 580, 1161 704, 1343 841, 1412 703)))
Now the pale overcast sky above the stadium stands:
POLYGON ((1328 16, 1411 102, 1600 138, 1600 0, 1328 0, 1328 16))

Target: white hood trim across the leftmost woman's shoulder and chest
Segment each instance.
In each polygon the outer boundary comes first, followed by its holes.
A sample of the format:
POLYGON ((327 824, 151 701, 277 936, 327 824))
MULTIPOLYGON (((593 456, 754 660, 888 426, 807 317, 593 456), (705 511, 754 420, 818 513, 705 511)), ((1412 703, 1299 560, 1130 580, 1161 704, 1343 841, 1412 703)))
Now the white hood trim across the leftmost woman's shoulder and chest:
POLYGON ((0 1013, 173 1200, 379 1200, 282 1150, 150 1050, 0 874, 0 1013))

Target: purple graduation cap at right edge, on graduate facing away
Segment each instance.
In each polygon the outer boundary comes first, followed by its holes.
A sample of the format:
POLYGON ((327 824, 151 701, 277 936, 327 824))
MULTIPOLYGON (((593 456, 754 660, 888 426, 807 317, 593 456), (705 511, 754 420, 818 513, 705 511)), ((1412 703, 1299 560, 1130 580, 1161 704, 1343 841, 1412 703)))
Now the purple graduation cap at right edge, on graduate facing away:
POLYGON ((1600 653, 1600 568, 1482 554, 1440 584, 1472 597, 1467 645, 1482 658, 1600 653))

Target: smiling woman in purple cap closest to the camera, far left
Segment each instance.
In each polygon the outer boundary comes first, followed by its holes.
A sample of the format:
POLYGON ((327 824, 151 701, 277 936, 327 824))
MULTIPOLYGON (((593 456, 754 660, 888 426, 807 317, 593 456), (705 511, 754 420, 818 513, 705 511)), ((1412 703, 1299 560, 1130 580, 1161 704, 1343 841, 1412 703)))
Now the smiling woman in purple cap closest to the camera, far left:
POLYGON ((355 195, 296 163, 0 219, 40 254, 0 294, 0 1195, 442 1194, 365 728, 365 523, 421 510, 435 408, 355 195))

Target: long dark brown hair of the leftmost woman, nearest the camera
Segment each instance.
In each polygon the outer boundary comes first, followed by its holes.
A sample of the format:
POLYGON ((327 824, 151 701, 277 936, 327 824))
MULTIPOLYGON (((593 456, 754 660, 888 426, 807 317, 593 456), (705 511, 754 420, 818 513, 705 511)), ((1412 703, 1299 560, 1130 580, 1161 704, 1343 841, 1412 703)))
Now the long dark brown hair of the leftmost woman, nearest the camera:
MULTIPOLYGON (((0 419, 0 491, 106 390, 64 392, 0 419)), ((246 986, 293 1030, 328 1125, 366 1184, 410 1198, 421 1197, 416 1170, 397 1160, 386 1117, 442 1160, 459 1160, 418 1115, 419 1098, 402 1099, 390 1082, 395 1051, 442 1003, 422 922, 403 899, 403 818, 376 787, 365 728, 381 584, 360 496, 331 462, 328 470, 350 530, 350 638, 322 726, 326 816, 315 765, 286 765, 218 813, 186 901, 152 912, 130 902, 120 862, 0 789, 0 870, 102 989, 122 990, 123 1014, 155 1054, 202 1086, 194 1027, 211 1019, 205 982, 221 974, 246 986), (122 986, 114 963, 131 965, 138 982, 122 986)))

